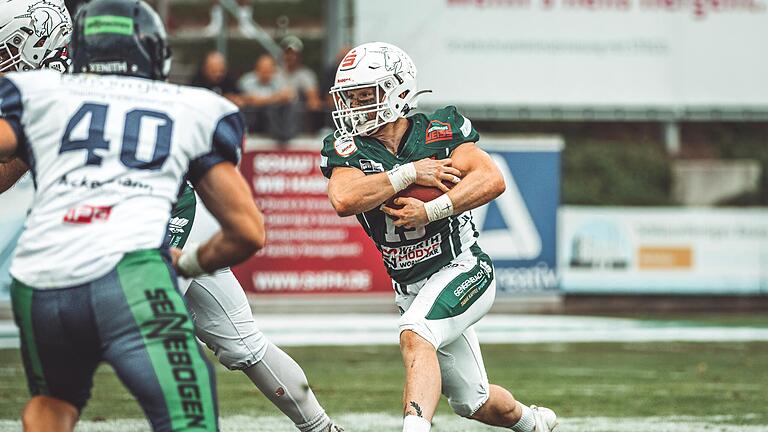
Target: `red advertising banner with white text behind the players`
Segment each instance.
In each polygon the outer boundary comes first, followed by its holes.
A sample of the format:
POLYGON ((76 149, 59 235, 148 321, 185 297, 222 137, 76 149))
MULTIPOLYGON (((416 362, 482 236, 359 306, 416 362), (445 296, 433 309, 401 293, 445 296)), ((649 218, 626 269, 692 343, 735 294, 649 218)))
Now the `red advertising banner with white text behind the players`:
POLYGON ((391 292, 381 254, 326 194, 320 155, 256 151, 240 167, 264 213, 267 246, 234 272, 255 294, 391 292))

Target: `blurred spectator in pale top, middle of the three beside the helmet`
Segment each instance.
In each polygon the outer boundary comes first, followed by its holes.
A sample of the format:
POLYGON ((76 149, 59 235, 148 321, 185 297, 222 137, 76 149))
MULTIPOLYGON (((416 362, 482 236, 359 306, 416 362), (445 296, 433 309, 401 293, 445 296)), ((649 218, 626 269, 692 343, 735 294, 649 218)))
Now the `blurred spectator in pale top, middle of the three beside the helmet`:
POLYGON ((277 72, 275 59, 263 54, 253 71, 240 77, 237 86, 250 131, 266 133, 283 145, 298 134, 299 128, 296 94, 277 72))

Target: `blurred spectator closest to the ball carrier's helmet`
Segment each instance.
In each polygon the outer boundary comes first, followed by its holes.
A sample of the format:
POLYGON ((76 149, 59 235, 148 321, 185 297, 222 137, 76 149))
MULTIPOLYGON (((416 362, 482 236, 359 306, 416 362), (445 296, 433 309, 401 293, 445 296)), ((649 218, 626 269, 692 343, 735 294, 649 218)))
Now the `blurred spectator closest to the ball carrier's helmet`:
POLYGON ((280 46, 283 48, 285 80, 298 96, 298 120, 306 118, 306 129, 316 131, 322 124, 324 106, 317 88, 317 75, 301 61, 304 44, 296 36, 286 36, 280 46))

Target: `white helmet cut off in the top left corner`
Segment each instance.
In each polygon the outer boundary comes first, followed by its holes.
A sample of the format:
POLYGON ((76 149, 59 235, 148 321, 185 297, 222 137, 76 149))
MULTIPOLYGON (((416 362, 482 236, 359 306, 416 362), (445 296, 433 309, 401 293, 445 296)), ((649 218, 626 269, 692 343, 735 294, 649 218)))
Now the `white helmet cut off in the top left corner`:
POLYGON ((0 73, 38 69, 64 48, 72 18, 62 0, 6 0, 0 8, 0 73))

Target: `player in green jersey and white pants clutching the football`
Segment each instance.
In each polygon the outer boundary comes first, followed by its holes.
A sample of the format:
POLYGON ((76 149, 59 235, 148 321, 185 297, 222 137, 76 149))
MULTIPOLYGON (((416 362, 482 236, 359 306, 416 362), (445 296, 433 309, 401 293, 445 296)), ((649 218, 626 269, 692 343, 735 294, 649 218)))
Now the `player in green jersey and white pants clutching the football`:
POLYGON ((455 107, 406 117, 421 93, 401 49, 354 48, 336 73, 337 130, 321 152, 331 204, 339 216, 357 216, 392 278, 402 314, 403 431, 430 430, 441 392, 460 416, 517 432, 552 431, 552 410, 489 384, 473 329, 491 308, 496 283, 469 210, 504 192, 504 180, 455 107), (412 184, 444 194, 384 204, 412 184))

